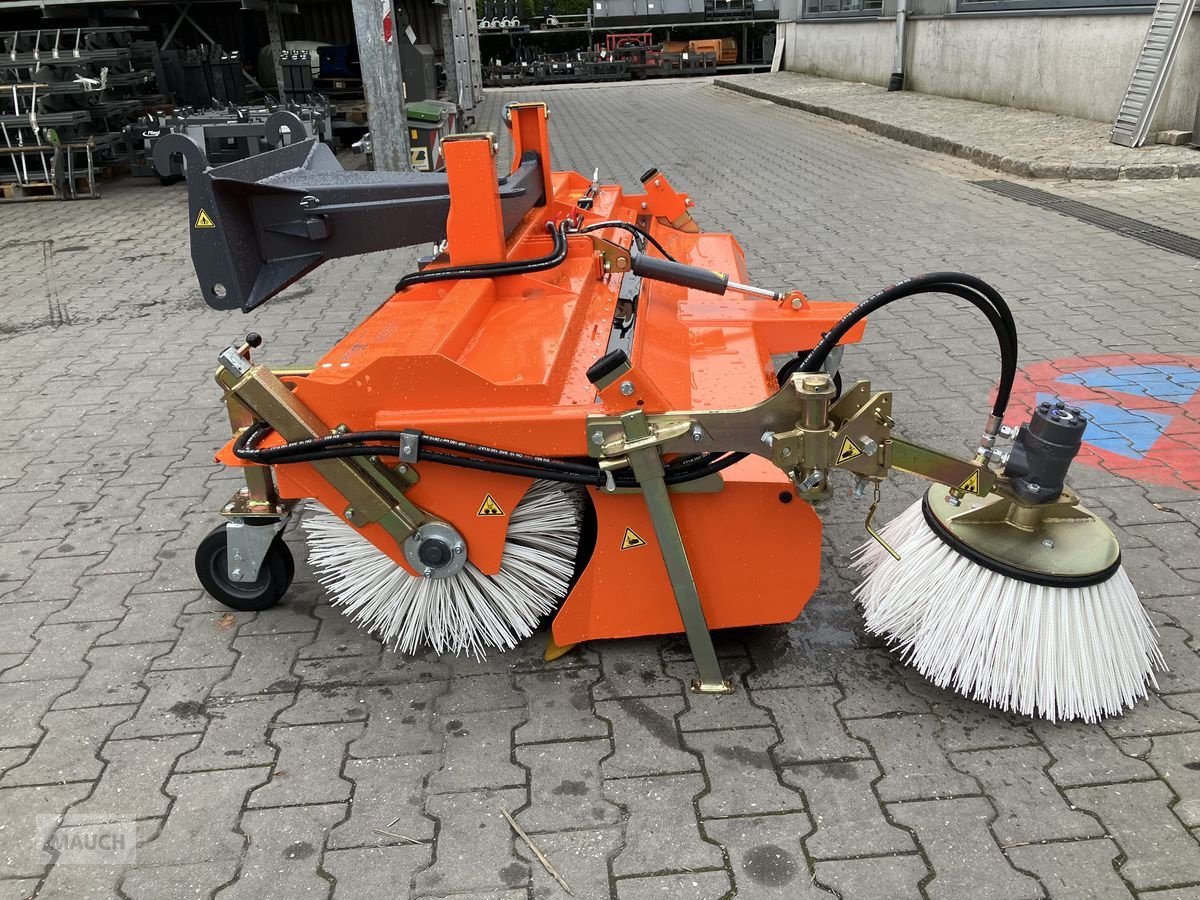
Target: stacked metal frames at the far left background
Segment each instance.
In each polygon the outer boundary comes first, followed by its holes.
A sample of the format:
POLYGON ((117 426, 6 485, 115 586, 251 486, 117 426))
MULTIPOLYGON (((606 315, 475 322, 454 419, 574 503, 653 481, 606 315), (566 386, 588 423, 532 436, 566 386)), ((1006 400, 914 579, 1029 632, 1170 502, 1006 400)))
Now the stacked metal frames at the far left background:
POLYGON ((158 54, 142 28, 0 35, 0 199, 96 197, 124 128, 161 107, 158 54))

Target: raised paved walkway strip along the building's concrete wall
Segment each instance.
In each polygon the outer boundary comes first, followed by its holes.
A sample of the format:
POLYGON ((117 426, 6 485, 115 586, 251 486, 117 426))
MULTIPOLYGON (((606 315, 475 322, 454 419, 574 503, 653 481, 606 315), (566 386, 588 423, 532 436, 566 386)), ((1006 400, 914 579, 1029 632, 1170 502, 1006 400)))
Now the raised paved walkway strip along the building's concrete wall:
POLYGON ((1200 151, 1186 145, 1118 146, 1109 140, 1111 122, 797 72, 724 76, 715 84, 1022 178, 1115 181, 1200 175, 1200 151))

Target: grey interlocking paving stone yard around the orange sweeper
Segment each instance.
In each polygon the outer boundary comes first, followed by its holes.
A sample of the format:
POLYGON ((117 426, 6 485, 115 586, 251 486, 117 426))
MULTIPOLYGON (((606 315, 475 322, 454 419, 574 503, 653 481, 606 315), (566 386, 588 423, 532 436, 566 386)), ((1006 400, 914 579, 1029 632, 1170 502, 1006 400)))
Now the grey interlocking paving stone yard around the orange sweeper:
MULTIPOLYGON (((703 83, 488 98, 552 106, 559 167, 649 166, 733 230, 757 282, 859 299, 976 272, 1013 301, 1024 362, 1196 354, 1195 260, 970 184, 982 170, 703 83)), ((1174 151, 1183 152, 1183 151, 1174 151)), ((1200 181, 1052 190, 1200 236, 1200 181)), ((565 896, 500 815, 596 898, 1184 898, 1200 892, 1200 553, 1194 490, 1080 469, 1115 514, 1172 673, 1103 726, 992 713, 868 638, 845 572, 862 506, 826 517, 796 623, 720 638, 732 697, 683 689, 676 638, 553 665, 380 652, 299 560, 284 606, 230 613, 191 554, 233 490, 215 354, 311 360, 412 253, 330 264, 250 317, 202 302, 180 187, 0 206, 0 898, 565 896), (133 822, 84 866, 35 844, 133 822)), ((916 439, 964 449, 996 362, 956 307, 876 317, 847 371, 894 388, 916 439), (967 422, 968 427, 962 424, 967 422)), ((919 486, 894 479, 888 516, 919 486)))

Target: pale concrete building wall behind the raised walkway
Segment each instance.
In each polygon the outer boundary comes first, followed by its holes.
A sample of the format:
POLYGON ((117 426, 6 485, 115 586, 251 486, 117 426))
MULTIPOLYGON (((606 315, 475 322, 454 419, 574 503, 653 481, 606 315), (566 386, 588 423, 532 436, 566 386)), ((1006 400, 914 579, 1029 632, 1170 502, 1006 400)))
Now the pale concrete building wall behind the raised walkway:
MULTIPOLYGON (((925 94, 1112 121, 1147 14, 947 16, 908 22, 906 86, 925 94)), ((887 84, 895 22, 802 20, 786 26, 785 67, 887 84)), ((1156 130, 1190 131, 1200 98, 1200 25, 1184 32, 1156 130)))

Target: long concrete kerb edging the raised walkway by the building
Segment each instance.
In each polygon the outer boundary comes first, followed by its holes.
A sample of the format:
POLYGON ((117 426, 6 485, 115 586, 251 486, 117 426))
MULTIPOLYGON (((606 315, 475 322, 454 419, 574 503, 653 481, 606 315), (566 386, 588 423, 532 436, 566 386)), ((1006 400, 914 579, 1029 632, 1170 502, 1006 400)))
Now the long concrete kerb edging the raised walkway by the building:
POLYGON ((942 134, 930 134, 928 132, 906 128, 882 119, 851 113, 823 103, 812 103, 797 97, 781 96, 770 91, 760 90, 748 84, 742 84, 730 78, 714 78, 713 84, 725 90, 744 94, 756 100, 767 100, 779 106, 800 109, 805 113, 821 115, 827 119, 853 125, 864 131, 880 134, 901 144, 908 144, 920 150, 930 150, 947 156, 956 156, 968 160, 977 166, 988 169, 1003 172, 1009 175, 1031 179, 1069 179, 1087 181, 1116 181, 1118 179, 1147 180, 1166 178, 1196 178, 1200 176, 1200 162, 1196 163, 1144 163, 1120 166, 1108 162, 1075 162, 1070 160, 1044 160, 1026 158, 1019 156, 1001 156, 994 150, 955 140, 942 134))

